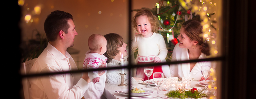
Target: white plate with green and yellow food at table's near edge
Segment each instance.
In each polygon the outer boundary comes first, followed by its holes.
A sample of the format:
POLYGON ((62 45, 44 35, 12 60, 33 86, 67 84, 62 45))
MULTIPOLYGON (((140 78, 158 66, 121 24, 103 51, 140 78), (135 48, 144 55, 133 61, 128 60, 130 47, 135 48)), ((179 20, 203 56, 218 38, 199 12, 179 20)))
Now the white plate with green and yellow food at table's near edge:
MULTIPOLYGON (((147 90, 147 89, 142 89, 145 92, 141 91, 140 93, 134 93, 134 92, 132 92, 132 90, 133 89, 130 90, 132 96, 146 96, 146 95, 150 95, 153 93, 152 90, 147 90)), ((133 91, 136 91, 136 90, 133 90, 133 91)), ((117 91, 117 93, 122 94, 122 95, 129 95, 127 89, 117 91)))

